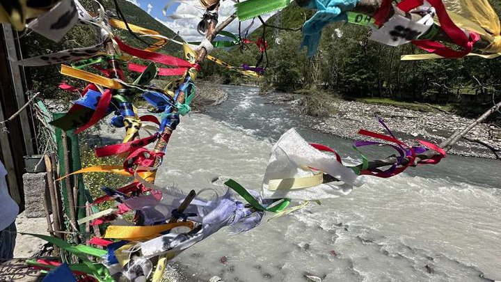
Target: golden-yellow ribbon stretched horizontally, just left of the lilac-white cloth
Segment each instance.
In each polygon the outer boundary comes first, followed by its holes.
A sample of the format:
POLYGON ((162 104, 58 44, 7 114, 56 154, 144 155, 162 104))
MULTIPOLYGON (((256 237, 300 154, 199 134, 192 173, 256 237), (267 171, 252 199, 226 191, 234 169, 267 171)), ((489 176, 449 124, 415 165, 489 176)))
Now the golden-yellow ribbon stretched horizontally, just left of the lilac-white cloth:
POLYGON ((150 237, 157 237, 160 233, 176 227, 188 227, 193 230, 193 222, 180 221, 173 224, 162 224, 152 226, 117 226, 111 225, 106 228, 104 238, 122 240, 141 240, 150 237))

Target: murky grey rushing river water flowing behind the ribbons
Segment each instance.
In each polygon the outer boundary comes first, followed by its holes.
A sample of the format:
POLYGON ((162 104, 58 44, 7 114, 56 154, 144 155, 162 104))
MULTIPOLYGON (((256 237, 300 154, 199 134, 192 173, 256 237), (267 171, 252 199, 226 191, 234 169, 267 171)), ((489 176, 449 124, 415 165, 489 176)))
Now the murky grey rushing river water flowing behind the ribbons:
MULTIPOLYGON (((255 88, 221 87, 229 94, 221 106, 182 118, 157 184, 198 190, 218 176, 258 190, 273 142, 290 127, 356 162, 351 141, 308 129, 306 117, 287 105, 266 104, 255 88)), ((224 281, 501 280, 500 171, 499 161, 447 156, 388 180, 366 178, 349 196, 264 220, 248 233, 229 237, 223 229, 174 262, 200 281, 214 275, 224 281)))

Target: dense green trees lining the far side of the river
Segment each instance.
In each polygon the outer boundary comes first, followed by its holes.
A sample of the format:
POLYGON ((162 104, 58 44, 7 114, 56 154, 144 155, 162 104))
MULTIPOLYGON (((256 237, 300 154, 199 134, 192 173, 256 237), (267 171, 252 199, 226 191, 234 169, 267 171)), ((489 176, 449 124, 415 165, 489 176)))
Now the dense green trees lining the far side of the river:
MULTIPOLYGON (((501 1, 489 2, 500 13, 501 1)), ((293 3, 267 23, 295 28, 301 26, 311 13, 293 3)), ((424 52, 411 44, 389 47, 367 41, 367 31, 365 26, 330 24, 322 31, 317 54, 313 58, 306 58, 304 51, 299 49, 301 32, 267 28, 269 68, 263 84, 272 84, 279 91, 319 88, 348 98, 379 97, 456 104, 456 111, 464 116, 475 116, 491 107, 493 95, 495 100, 500 99, 500 95, 495 93, 495 87, 499 85, 498 73, 501 71, 498 59, 466 57, 401 61, 402 55, 424 52), (342 30, 344 35, 338 38, 335 29, 342 30), (479 84, 487 87, 482 88, 479 84)), ((261 34, 262 28, 259 28, 249 38, 255 40, 261 34)), ((252 58, 257 58, 258 52, 251 50, 250 54, 249 57, 246 52, 226 52, 226 56, 231 56, 236 65, 252 63, 252 58)), ((217 70, 212 71, 212 75, 218 73, 217 70)), ((225 75, 230 77, 228 80, 237 76, 232 73, 225 75)))

